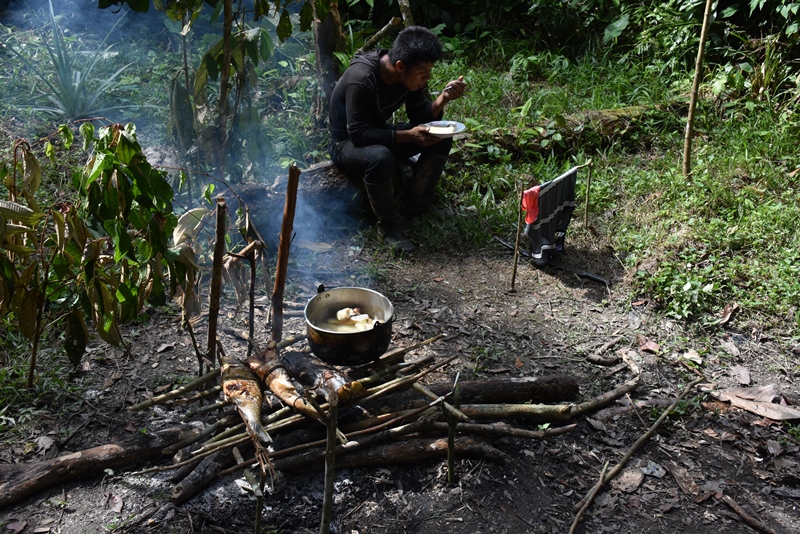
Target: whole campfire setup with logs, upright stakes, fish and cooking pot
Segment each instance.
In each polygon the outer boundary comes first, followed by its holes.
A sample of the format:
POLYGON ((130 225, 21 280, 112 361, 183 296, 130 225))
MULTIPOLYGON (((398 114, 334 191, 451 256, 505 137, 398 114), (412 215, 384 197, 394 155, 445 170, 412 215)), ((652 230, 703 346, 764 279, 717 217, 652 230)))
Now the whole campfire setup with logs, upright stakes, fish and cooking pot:
MULTIPOLYGON (((384 295, 366 288, 321 288, 305 304, 306 332, 284 338, 284 308, 303 306, 283 299, 298 177, 299 171, 292 168, 271 299, 269 342, 259 346, 253 336, 252 287, 248 357, 227 356, 218 341, 215 314, 219 302, 213 299, 215 294, 219 299, 225 260, 219 247, 211 281, 208 350, 205 357, 198 355, 199 360, 205 358, 206 363, 217 365, 182 387, 129 407, 141 411, 156 405, 192 403, 198 413, 217 411, 216 422, 202 430, 180 427, 35 465, 11 466, 3 473, 0 505, 66 478, 161 459, 159 465, 140 473, 173 472, 171 498, 178 505, 218 477, 242 473, 257 496, 260 521, 265 488, 274 477, 324 470, 321 530, 327 531, 337 468, 442 458, 452 483, 458 477, 457 457, 504 457, 487 438, 556 437, 572 431, 586 414, 638 386, 638 376, 634 376, 613 391, 578 402, 579 385, 566 375, 476 380, 456 375, 429 383, 434 371, 445 371, 456 357, 435 358, 417 352, 445 336, 388 350, 394 308, 384 295), (214 397, 217 400, 207 403, 214 397), (531 430, 512 421, 534 423, 538 428, 531 430), (167 458, 172 462, 165 465, 167 458)), ((224 243, 224 200, 218 201, 217 210, 218 243, 224 243)), ((252 265, 258 251, 254 242, 235 257, 252 265)))

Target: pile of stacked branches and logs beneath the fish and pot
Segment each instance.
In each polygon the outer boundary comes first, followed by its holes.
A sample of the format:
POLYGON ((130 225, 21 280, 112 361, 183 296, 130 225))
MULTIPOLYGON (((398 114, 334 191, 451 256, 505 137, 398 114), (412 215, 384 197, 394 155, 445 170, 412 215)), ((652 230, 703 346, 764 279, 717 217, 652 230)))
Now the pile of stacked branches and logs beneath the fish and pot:
MULTIPOLYGON (((264 354, 269 351, 261 355, 264 354)), ((271 360, 261 360, 260 367, 253 369, 264 390, 263 413, 258 416, 260 429, 255 426, 252 414, 243 416, 241 423, 235 413, 223 411, 219 420, 205 431, 182 434, 180 439, 176 437, 169 443, 161 441, 155 455, 152 447, 148 449, 148 460, 158 456, 166 459, 178 450, 188 451, 182 461, 141 471, 176 471, 174 502, 186 502, 219 476, 259 464, 260 451, 253 443, 267 442, 267 437, 273 440, 269 457, 275 470, 285 473, 323 470, 329 428, 321 414, 328 413, 331 394, 339 401, 336 465, 344 468, 413 463, 434 456, 446 457, 448 452, 462 457, 500 459, 504 455, 492 446, 492 440, 509 436, 541 440, 569 432, 578 418, 610 405, 638 385, 634 379, 613 391, 575 404, 571 401, 578 394, 578 384, 571 376, 467 380, 458 384, 460 400, 455 408, 452 406, 453 384, 423 385, 421 381, 452 359, 422 358, 409 363, 398 360, 396 353, 389 353, 369 367, 346 373, 307 353, 287 352, 282 358, 271 357, 271 360), (271 382, 267 382, 269 380, 271 382), (275 387, 276 382, 280 388, 275 387), (282 391, 282 395, 275 395, 275 389, 282 391), (445 403, 451 404, 452 410, 443 410, 445 403), (549 422, 553 426, 533 431, 511 424, 512 420, 549 422), (452 434, 451 439, 448 439, 449 434, 452 434), (240 458, 234 457, 235 448, 240 458), (177 476, 178 471, 180 476, 177 476)), ((231 362, 226 360, 221 371, 214 369, 192 384, 131 409, 197 401, 193 390, 204 387, 220 374, 224 377, 226 364, 231 362)), ((234 368, 242 370, 239 365, 234 368)), ((224 390, 225 380, 222 382, 224 390)), ((241 415, 241 405, 234 405, 241 415)), ((115 449, 118 454, 115 465, 143 459, 141 449, 126 451, 125 448, 117 446, 115 449)), ((263 449, 261 452, 263 454, 263 449)), ((61 482, 65 476, 90 475, 96 471, 96 465, 102 465, 86 463, 84 458, 77 455, 67 460, 73 462, 69 468, 64 468, 63 464, 57 469, 52 466, 52 476, 39 477, 39 482, 33 485, 21 484, 25 472, 41 473, 51 466, 2 466, 0 487, 6 495, 4 503, 61 482), (15 468, 19 472, 11 473, 15 468), (14 487, 18 484, 21 484, 19 491, 14 487)))

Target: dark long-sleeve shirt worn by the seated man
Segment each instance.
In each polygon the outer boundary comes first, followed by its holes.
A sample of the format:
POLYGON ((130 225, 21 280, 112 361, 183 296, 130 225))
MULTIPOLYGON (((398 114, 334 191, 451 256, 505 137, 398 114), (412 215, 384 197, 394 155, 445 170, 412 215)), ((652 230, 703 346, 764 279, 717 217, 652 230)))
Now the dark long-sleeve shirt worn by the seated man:
POLYGON ((410 91, 402 83, 386 84, 380 75, 380 58, 386 50, 357 55, 331 95, 328 129, 336 143, 349 138, 355 146, 392 148, 395 131, 388 125, 392 114, 405 104, 412 124, 440 117, 431 114, 431 101, 423 89, 410 91))

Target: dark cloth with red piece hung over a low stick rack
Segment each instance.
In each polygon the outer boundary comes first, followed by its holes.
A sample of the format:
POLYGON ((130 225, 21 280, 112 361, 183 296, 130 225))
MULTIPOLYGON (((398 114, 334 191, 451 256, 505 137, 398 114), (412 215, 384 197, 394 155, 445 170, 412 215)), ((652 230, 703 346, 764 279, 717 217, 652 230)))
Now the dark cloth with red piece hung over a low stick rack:
POLYGON ((544 267, 552 255, 564 252, 567 226, 575 209, 577 177, 578 167, 574 167, 555 180, 532 187, 523 194, 522 209, 528 213, 525 235, 537 267, 544 267))

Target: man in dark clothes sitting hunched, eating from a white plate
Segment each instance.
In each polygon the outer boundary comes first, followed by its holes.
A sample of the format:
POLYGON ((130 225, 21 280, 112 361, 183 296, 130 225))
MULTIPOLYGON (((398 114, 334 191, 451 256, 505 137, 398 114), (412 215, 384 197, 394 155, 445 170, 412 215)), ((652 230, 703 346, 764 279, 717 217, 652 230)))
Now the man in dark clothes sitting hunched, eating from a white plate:
POLYGON ((403 188, 405 216, 430 207, 453 140, 431 135, 425 123, 441 120, 445 105, 461 98, 466 88, 460 76, 430 100, 425 88, 441 58, 439 39, 426 28, 411 26, 400 32, 391 50, 356 55, 331 95, 331 160, 349 178, 363 181, 379 234, 401 252, 415 247, 398 223, 395 187, 403 188), (411 122, 389 124, 404 104, 411 122), (418 154, 410 176, 399 171, 418 154))

